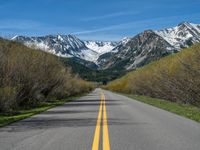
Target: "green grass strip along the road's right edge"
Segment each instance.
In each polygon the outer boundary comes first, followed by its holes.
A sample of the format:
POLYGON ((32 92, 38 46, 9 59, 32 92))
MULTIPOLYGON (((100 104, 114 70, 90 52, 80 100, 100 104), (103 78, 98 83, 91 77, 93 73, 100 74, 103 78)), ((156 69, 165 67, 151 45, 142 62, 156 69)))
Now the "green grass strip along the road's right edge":
POLYGON ((167 110, 169 112, 184 116, 186 118, 200 122, 200 108, 188 105, 170 102, 163 99, 151 98, 146 96, 135 96, 126 94, 126 96, 143 103, 167 110))

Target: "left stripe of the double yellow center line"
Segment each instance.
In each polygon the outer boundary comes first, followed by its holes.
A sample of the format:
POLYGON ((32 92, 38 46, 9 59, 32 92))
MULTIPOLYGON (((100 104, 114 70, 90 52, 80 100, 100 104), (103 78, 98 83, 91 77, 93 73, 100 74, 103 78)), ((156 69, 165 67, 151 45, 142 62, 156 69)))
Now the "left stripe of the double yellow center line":
POLYGON ((101 99, 100 100, 100 107, 99 107, 99 114, 98 114, 98 118, 97 118, 95 134, 94 134, 94 140, 93 140, 93 145, 92 145, 92 150, 98 150, 99 149, 100 128, 101 128, 102 107, 103 107, 102 105, 103 105, 103 101, 101 99))

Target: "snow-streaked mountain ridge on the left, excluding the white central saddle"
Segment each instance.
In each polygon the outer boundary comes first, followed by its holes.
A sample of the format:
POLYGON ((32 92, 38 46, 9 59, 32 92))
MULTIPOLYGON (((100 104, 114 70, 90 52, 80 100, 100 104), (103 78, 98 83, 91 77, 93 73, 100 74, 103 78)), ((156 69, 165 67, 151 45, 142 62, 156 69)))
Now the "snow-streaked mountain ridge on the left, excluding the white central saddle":
POLYGON ((97 52, 86 47, 83 41, 73 35, 15 36, 12 40, 62 57, 78 57, 87 61, 96 61, 99 56, 97 52))

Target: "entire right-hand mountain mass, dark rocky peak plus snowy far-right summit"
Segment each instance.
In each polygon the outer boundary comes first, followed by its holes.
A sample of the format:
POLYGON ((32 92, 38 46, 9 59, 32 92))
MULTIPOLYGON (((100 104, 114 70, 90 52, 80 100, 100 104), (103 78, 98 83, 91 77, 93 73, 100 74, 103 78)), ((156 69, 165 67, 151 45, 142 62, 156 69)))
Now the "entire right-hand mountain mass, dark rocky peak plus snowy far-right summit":
POLYGON ((200 25, 183 22, 164 30, 146 30, 124 38, 111 52, 101 55, 101 69, 131 70, 200 42, 200 25), (115 52, 115 53, 114 53, 115 52))

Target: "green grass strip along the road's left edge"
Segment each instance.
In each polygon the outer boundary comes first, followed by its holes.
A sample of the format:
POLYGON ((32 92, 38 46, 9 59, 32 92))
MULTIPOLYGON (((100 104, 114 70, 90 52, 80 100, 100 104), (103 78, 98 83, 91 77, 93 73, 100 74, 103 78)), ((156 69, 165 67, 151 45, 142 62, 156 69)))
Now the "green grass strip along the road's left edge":
POLYGON ((26 110, 25 109, 17 110, 13 114, 0 114, 0 127, 3 127, 10 123, 31 117, 35 114, 44 112, 55 106, 62 105, 66 102, 73 101, 73 100, 77 99, 78 97, 80 97, 80 96, 69 97, 67 99, 62 99, 62 100, 53 100, 53 101, 45 102, 36 108, 26 109, 26 110))

